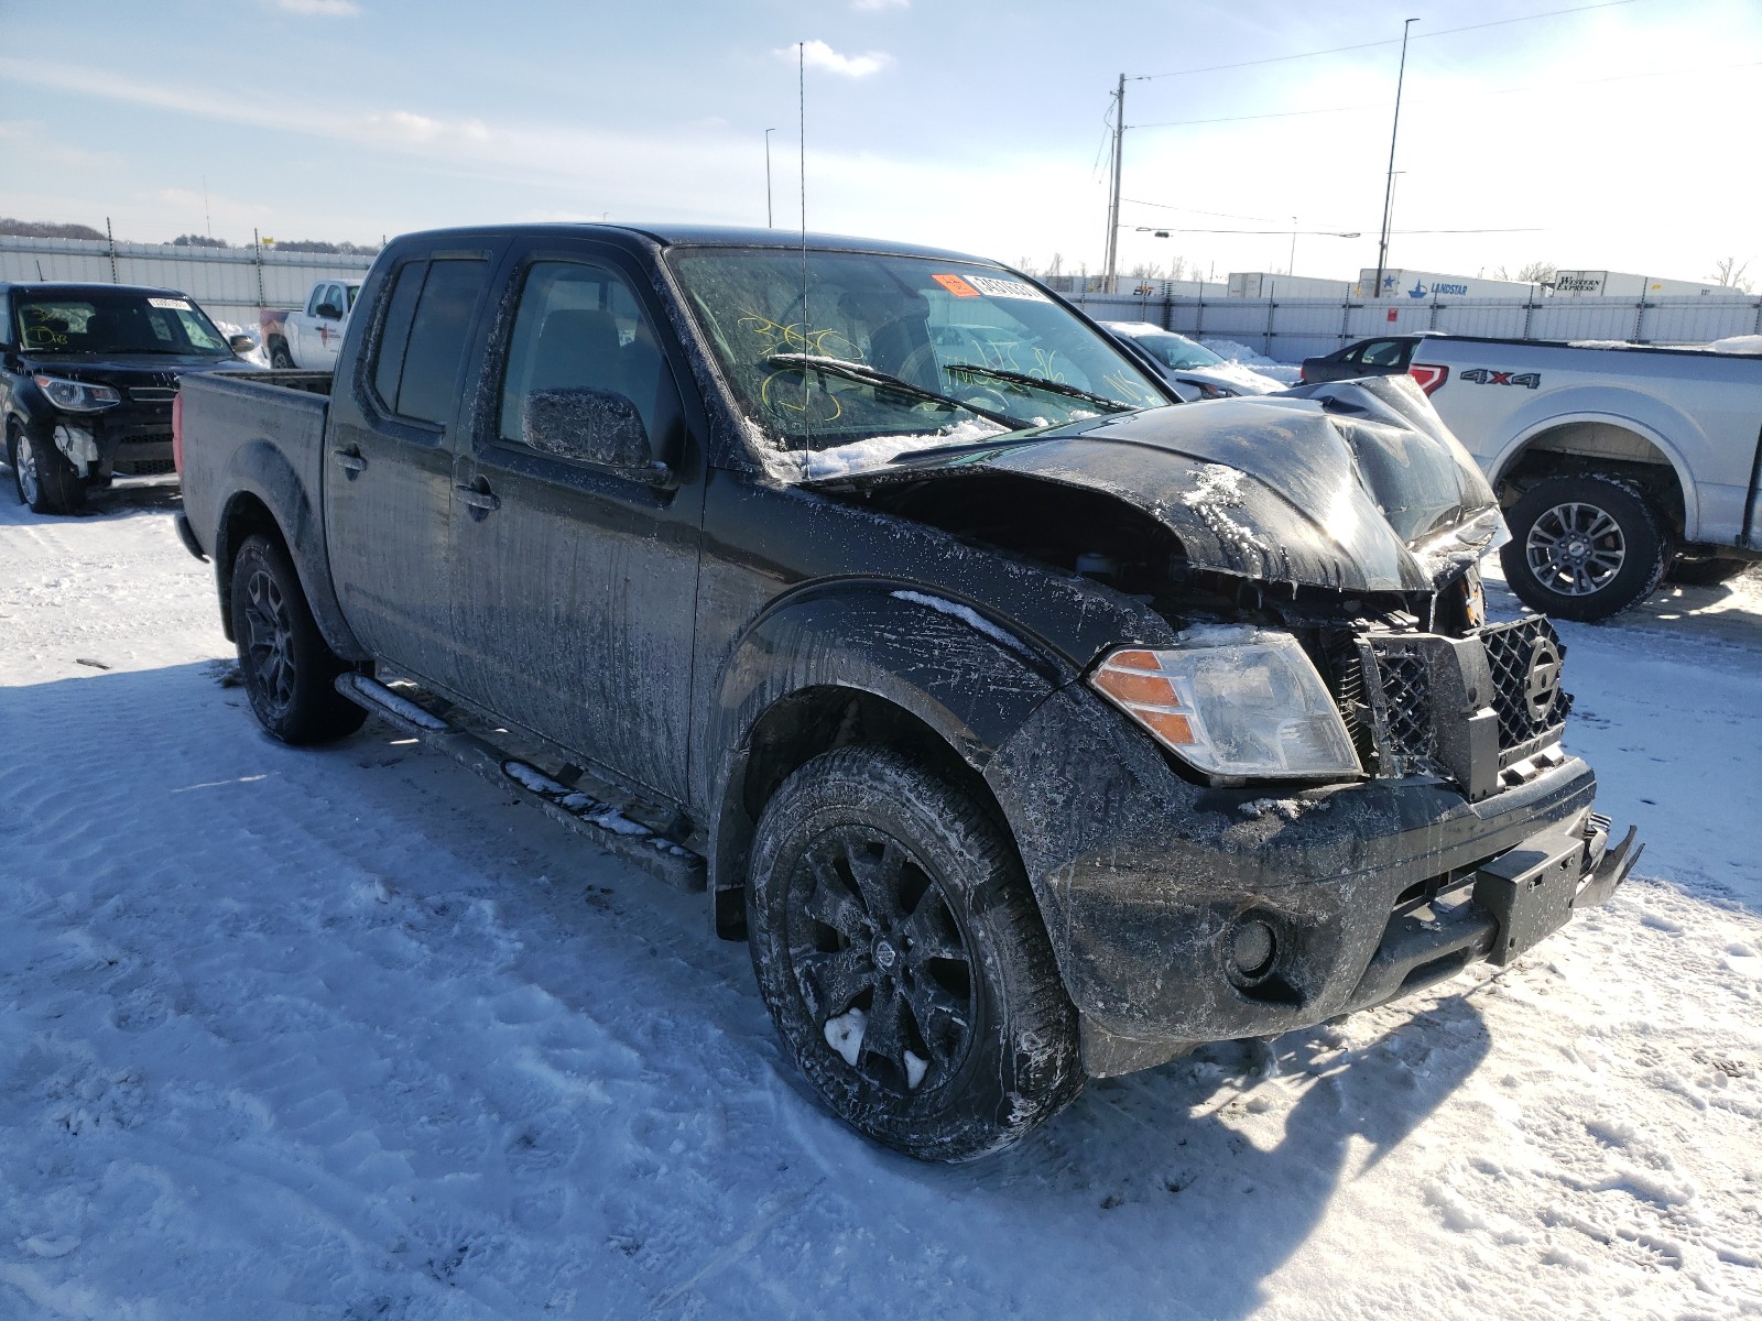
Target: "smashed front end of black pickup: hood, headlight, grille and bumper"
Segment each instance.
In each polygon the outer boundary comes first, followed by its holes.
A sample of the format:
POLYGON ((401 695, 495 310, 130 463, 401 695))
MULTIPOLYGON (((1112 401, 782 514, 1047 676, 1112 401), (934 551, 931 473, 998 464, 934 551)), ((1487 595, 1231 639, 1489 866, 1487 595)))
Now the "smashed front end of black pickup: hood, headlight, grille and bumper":
POLYGON ((985 764, 1115 1074, 1505 963, 1628 875, 1566 646, 1406 379, 1124 412, 811 481, 1133 604, 985 764))

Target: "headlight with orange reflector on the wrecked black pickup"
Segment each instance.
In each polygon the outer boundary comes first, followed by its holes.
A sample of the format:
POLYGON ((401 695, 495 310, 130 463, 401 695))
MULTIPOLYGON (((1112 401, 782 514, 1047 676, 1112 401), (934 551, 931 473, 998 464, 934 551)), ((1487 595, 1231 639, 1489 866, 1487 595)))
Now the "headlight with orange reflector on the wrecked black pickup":
POLYGON ((1089 676, 1158 743, 1218 779, 1341 779, 1364 770, 1327 685, 1288 632, 1189 629, 1126 648, 1089 676))

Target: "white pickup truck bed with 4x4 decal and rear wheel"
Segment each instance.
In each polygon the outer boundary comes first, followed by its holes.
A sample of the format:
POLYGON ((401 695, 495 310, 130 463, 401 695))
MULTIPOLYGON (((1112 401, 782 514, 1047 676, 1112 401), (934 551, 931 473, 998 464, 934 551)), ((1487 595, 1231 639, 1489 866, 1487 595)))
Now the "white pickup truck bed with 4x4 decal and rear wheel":
POLYGON ((1408 370, 1498 490, 1528 606, 1598 620, 1762 560, 1762 356, 1448 335, 1408 370))

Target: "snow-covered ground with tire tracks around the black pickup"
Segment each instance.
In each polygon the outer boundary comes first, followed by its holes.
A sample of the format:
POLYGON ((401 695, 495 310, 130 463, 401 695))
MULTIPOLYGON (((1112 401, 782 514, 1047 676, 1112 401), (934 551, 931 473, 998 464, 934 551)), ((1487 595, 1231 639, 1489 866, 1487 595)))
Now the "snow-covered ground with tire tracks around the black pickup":
POLYGON ((922 1166, 696 898, 264 738, 174 507, 0 497, 0 1317, 1762 1316, 1757 576, 1561 629, 1607 909, 922 1166))

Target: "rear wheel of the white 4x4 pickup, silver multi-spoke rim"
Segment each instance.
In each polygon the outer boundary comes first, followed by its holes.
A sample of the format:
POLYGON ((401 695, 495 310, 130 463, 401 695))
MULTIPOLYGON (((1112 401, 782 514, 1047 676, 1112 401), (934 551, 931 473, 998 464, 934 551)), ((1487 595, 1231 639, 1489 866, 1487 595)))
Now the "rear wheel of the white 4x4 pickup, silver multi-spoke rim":
POLYGON ((1538 481, 1507 514, 1505 581, 1531 609, 1603 620, 1651 595, 1669 544, 1651 506, 1595 472, 1538 481))

